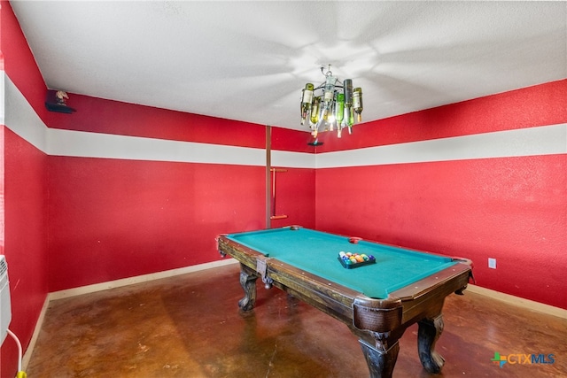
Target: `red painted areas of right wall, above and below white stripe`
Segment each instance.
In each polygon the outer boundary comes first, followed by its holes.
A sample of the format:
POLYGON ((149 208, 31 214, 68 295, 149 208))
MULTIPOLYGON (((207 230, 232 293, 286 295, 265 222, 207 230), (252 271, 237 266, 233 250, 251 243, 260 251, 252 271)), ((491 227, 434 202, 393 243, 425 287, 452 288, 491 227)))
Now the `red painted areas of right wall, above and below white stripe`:
MULTIPOLYGON (((555 81, 361 124, 349 137, 369 147, 560 124, 566 100, 567 80, 555 81)), ((317 228, 471 258, 478 285, 567 308, 567 155, 526 155, 317 169, 317 228)))

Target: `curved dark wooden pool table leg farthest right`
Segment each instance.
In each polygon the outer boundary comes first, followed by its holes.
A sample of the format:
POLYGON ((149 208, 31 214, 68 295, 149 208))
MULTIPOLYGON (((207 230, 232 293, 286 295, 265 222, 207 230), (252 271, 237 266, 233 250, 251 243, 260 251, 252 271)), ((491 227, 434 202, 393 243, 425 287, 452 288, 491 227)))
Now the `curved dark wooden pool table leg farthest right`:
POLYGON ((417 322, 417 351, 422 365, 431 374, 438 374, 445 364, 445 359, 434 351, 435 343, 443 332, 443 315, 439 314, 431 319, 423 319, 417 322))

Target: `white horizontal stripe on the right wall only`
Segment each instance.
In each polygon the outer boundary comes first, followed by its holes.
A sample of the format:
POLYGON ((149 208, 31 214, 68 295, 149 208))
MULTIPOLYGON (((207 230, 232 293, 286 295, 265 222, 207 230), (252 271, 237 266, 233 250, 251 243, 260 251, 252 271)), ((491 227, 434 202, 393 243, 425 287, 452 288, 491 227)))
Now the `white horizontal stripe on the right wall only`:
POLYGON ((567 153, 567 124, 317 154, 317 168, 567 153))

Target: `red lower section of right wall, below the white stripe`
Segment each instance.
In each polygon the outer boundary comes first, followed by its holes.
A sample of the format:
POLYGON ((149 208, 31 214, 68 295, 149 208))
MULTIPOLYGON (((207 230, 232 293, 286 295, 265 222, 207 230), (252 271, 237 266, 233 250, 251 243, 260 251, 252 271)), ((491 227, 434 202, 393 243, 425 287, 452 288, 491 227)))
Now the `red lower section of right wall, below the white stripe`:
POLYGON ((478 285, 566 308, 559 172, 567 172, 564 155, 321 169, 316 224, 471 258, 478 285))

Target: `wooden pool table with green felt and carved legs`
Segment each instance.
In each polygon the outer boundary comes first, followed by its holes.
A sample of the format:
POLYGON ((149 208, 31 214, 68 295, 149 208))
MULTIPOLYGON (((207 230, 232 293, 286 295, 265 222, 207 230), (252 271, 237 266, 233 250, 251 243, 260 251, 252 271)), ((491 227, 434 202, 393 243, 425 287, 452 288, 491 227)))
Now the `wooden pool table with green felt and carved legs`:
POLYGON ((392 376, 406 328, 418 323, 423 367, 439 373, 434 351, 443 330, 445 297, 462 294, 472 277, 469 259, 449 258, 358 237, 299 226, 217 236, 221 256, 240 263, 245 291, 238 305, 251 311, 256 280, 275 286, 344 322, 358 336, 372 378, 392 376), (373 264, 347 266, 340 252, 366 254, 373 264))

